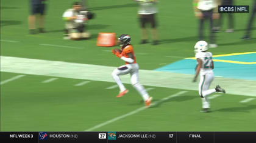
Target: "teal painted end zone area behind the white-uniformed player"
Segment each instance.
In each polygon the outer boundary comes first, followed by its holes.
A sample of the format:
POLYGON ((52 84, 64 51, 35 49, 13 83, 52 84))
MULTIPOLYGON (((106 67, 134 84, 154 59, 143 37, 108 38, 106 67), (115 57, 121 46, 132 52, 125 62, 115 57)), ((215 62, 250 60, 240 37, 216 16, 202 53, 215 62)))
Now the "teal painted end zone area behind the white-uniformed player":
MULTIPOLYGON (((223 59, 224 57, 218 57, 223 59)), ((232 57, 233 58, 233 57, 232 57)), ((217 58, 214 58, 217 59, 217 58)), ((230 60, 230 59, 226 59, 230 60)), ((240 61, 240 60, 236 60, 240 61)), ((252 61, 250 61, 252 62, 252 61)), ((236 78, 236 79, 249 79, 256 81, 256 64, 232 64, 227 62, 214 62, 215 69, 213 70, 215 76, 222 76, 224 78, 236 78)), ((194 74, 196 67, 196 60, 183 59, 164 67, 157 68, 157 71, 169 71, 174 73, 194 74)))

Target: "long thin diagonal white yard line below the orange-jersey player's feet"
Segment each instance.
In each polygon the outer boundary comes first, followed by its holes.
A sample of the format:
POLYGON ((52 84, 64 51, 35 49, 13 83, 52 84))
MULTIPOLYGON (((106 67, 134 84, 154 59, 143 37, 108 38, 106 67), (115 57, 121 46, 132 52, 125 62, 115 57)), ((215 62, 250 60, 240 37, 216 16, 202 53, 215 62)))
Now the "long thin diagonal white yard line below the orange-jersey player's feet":
MULTIPOLYGON (((160 101, 153 102, 153 103, 151 104, 151 106, 160 104, 160 103, 163 102, 163 101, 166 101, 166 100, 168 100, 168 99, 170 99, 170 98, 174 98, 174 97, 179 96, 179 95, 182 95, 183 93, 186 93, 186 92, 187 92, 187 91, 179 91, 178 93, 176 93, 176 94, 174 94, 174 95, 170 95, 170 96, 168 96, 168 97, 166 97, 166 98, 163 98, 163 99, 161 99, 160 101)), ((145 110, 146 108, 148 108, 148 107, 143 106, 143 107, 137 108, 136 110, 130 111, 129 113, 127 113, 127 114, 125 114, 125 115, 118 116, 118 117, 116 117, 116 118, 110 119, 110 120, 108 120, 107 122, 103 122, 103 123, 101 123, 101 124, 99 124, 99 125, 96 125, 96 126, 94 126, 94 127, 92 127, 92 128, 88 128, 87 130, 84 130, 84 131, 92 131, 92 130, 95 130, 96 128, 103 127, 104 125, 110 124, 110 123, 112 123, 112 122, 118 121, 119 119, 123 119, 123 118, 126 118, 127 116, 130 116, 130 115, 133 115, 133 114, 138 113, 138 112, 140 112, 140 111, 143 111, 143 110, 145 110)))

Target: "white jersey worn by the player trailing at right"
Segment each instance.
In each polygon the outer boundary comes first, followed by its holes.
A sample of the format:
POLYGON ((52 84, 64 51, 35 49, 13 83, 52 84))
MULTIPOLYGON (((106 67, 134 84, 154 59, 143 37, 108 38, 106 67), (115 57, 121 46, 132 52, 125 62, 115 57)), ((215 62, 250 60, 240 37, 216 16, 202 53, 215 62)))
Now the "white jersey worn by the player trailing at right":
MULTIPOLYGON (((202 60, 202 66, 200 69, 200 75, 205 75, 205 73, 213 72, 213 57, 211 52, 198 52, 196 53, 196 59, 202 60)), ((197 63, 198 64, 198 63, 197 63)))

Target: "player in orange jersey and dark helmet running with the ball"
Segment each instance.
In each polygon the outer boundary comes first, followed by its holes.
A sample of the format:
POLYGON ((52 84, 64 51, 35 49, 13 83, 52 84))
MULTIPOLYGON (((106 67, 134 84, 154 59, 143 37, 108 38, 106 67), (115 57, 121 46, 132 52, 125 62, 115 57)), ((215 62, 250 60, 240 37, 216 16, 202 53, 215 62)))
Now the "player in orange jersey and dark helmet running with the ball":
POLYGON ((129 35, 119 36, 118 44, 120 45, 121 50, 117 48, 115 50, 112 50, 114 55, 116 55, 118 58, 126 62, 125 65, 116 68, 112 73, 113 78, 115 79, 116 83, 120 88, 119 95, 116 97, 120 98, 128 92, 128 90, 124 87, 123 83, 121 82, 119 75, 126 75, 130 73, 130 81, 132 82, 133 87, 136 88, 136 90, 140 93, 146 106, 149 106, 151 104, 152 97, 149 97, 147 91, 145 90, 143 85, 141 85, 139 82, 139 79, 138 79, 139 66, 136 62, 133 47, 130 44, 130 39, 131 38, 129 35))

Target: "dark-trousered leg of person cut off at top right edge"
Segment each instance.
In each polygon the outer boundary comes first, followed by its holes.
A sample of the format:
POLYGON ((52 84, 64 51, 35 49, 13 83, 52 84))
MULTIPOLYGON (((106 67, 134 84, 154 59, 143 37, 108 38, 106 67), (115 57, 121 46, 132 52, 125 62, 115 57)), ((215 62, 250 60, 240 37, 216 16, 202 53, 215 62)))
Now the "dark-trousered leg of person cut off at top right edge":
POLYGON ((254 24, 255 16, 256 16, 256 0, 254 0, 254 4, 252 7, 252 14, 250 16, 250 19, 246 28, 246 33, 243 36, 243 38, 241 38, 242 40, 249 40, 251 38, 252 25, 254 24))

